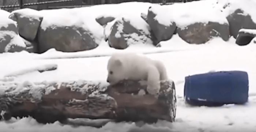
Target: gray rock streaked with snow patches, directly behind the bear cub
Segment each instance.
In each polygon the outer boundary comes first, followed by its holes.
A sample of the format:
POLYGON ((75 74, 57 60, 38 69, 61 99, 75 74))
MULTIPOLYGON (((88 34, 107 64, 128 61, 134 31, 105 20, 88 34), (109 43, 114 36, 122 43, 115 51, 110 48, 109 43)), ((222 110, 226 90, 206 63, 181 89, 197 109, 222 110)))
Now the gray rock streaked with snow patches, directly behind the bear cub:
MULTIPOLYGON (((147 25, 144 20, 142 20, 142 22, 147 25)), ((111 27, 111 31, 108 36, 108 44, 110 47, 116 49, 126 49, 132 44, 153 44, 149 29, 150 27, 148 27, 147 31, 137 29, 129 20, 123 17, 118 18, 114 21, 114 24, 111 27)))

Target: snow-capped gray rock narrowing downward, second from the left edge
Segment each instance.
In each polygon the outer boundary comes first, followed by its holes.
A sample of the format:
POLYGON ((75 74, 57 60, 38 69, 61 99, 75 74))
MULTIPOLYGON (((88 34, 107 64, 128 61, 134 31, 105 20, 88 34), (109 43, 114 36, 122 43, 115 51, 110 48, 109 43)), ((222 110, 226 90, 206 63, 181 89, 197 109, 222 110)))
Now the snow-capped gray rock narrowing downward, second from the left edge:
POLYGON ((34 41, 43 16, 37 10, 23 8, 11 12, 9 18, 18 23, 20 36, 28 41, 34 41))

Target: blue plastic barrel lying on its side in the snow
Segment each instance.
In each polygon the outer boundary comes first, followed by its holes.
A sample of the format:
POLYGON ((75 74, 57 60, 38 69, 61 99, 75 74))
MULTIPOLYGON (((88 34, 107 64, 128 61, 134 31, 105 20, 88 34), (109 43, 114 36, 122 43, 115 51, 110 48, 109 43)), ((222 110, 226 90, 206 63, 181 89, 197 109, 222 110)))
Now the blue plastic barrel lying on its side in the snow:
POLYGON ((220 71, 185 77, 185 101, 195 106, 244 104, 248 101, 249 80, 244 71, 220 71))

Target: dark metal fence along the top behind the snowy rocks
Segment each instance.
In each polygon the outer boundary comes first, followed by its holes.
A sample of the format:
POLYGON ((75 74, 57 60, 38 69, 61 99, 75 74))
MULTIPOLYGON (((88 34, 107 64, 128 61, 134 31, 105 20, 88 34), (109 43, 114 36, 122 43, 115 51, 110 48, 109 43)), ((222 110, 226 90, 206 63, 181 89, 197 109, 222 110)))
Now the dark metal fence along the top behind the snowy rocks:
POLYGON ((20 8, 44 10, 55 8, 84 7, 97 4, 116 4, 130 1, 170 4, 176 2, 189 2, 196 0, 0 0, 0 9, 9 12, 20 8))

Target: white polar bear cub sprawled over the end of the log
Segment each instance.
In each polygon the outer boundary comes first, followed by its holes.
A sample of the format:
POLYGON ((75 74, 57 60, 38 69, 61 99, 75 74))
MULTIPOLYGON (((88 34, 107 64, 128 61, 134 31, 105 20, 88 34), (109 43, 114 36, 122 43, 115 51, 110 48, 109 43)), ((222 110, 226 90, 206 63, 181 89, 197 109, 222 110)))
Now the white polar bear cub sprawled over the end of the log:
POLYGON ((138 53, 114 53, 107 65, 107 82, 116 84, 124 79, 146 80, 147 91, 158 94, 160 81, 167 80, 165 65, 159 60, 152 60, 138 53))

